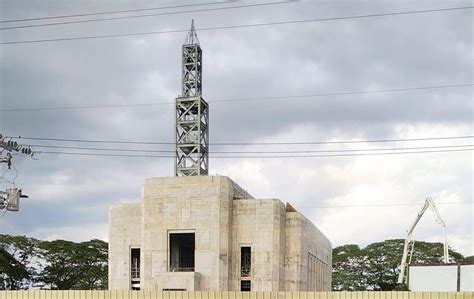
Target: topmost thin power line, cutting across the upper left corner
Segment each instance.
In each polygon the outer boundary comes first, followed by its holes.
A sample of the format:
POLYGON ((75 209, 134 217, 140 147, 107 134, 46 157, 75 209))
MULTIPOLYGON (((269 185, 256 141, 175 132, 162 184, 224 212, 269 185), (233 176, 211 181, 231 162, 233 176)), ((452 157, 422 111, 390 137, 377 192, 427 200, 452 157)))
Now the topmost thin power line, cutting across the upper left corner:
POLYGON ((197 3, 197 4, 183 4, 183 5, 173 5, 173 6, 160 6, 160 7, 150 7, 150 8, 137 8, 137 9, 112 10, 112 11, 93 12, 93 13, 81 13, 81 14, 72 14, 72 15, 36 17, 36 18, 27 18, 27 19, 1 20, 0 23, 39 21, 39 20, 87 17, 87 16, 108 15, 108 14, 118 14, 118 13, 138 12, 138 11, 161 10, 161 9, 171 9, 171 8, 195 7, 195 6, 204 6, 204 5, 218 5, 218 4, 227 4, 227 3, 238 2, 238 1, 239 0, 228 0, 228 1, 205 2, 205 3, 197 3))

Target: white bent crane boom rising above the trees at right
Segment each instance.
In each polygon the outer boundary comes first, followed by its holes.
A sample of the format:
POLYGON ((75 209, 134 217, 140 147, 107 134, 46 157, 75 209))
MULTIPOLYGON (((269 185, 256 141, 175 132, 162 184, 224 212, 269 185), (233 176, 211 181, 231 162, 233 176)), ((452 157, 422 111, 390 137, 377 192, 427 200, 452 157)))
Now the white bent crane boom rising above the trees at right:
POLYGON ((421 217, 423 214, 426 212, 428 208, 431 208, 431 211, 433 211, 433 214, 435 215, 436 222, 441 224, 443 227, 443 262, 444 263, 449 263, 449 252, 448 252, 448 231, 446 228, 446 223, 444 222, 443 218, 441 218, 441 215, 439 214, 438 209, 436 208, 436 205, 431 197, 428 197, 425 200, 425 204, 421 208, 420 212, 418 212, 418 215, 416 215, 415 221, 410 225, 410 227, 407 230, 407 237, 405 239, 405 246, 403 248, 403 256, 402 256, 402 262, 400 264, 400 274, 398 275, 398 283, 406 283, 406 272, 408 265, 411 262, 411 257, 413 254, 413 248, 415 246, 415 241, 412 240, 412 234, 413 230, 415 229, 416 225, 420 221, 421 217), (408 256, 410 256, 408 262, 408 256))

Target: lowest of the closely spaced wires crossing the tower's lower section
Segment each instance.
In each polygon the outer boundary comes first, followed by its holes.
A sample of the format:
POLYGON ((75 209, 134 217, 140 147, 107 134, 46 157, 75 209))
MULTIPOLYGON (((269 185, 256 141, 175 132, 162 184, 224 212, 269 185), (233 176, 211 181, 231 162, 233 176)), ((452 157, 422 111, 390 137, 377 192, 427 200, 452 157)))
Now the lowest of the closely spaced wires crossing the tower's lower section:
MULTIPOLYGON (((363 153, 363 154, 330 154, 330 155, 278 155, 278 156, 211 156, 213 159, 281 159, 281 158, 324 158, 324 157, 353 157, 353 156, 382 156, 382 155, 405 155, 405 154, 427 154, 463 152, 474 149, 451 149, 451 150, 431 150, 431 151, 410 151, 410 152, 390 152, 390 153, 363 153)), ((42 151, 43 154, 76 155, 76 156, 103 156, 103 157, 131 157, 131 158, 170 158, 175 156, 161 155, 127 155, 127 154, 98 154, 98 153, 73 153, 73 152, 50 152, 42 151)))

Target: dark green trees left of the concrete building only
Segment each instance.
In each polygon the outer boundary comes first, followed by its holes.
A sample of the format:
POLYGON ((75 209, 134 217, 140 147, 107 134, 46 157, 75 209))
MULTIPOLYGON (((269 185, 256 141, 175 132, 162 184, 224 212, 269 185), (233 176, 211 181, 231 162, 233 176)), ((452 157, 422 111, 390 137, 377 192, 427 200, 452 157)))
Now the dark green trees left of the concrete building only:
POLYGON ((0 290, 107 289, 107 246, 0 235, 0 290))

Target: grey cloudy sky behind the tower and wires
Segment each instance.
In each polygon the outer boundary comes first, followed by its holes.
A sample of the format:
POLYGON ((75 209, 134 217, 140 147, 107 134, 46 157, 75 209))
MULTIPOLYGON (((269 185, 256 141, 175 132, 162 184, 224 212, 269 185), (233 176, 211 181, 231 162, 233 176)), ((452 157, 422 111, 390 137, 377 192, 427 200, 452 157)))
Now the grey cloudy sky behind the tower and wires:
MULTIPOLYGON (((0 19, 110 12, 206 1, 0 0, 0 19)), ((207 1, 215 2, 215 1, 207 1)), ((472 5, 471 1, 232 1, 167 10, 95 15, 3 27, 202 10, 0 31, 12 41, 214 28, 472 5)), ((203 96, 210 102, 210 141, 313 142, 470 136, 473 87, 255 101, 228 99, 472 84, 472 9, 198 31, 203 96), (216 101, 216 102, 213 102, 216 101)), ((173 141, 185 33, 0 45, 0 132, 8 136, 173 141), (157 103, 149 106, 7 111, 9 109, 157 103), (163 104, 165 103, 165 104, 163 104)), ((40 147, 173 150, 170 145, 21 141, 40 147)), ((472 138, 326 145, 213 146, 218 151, 301 151, 470 145, 472 138)), ((443 148, 448 149, 448 148, 443 148)), ((150 152, 114 152, 150 155, 150 152)), ((170 155, 170 153, 152 153, 170 155)), ((211 153, 212 155, 212 153, 211 153)), ((219 155, 219 154, 215 154, 219 155)), ((258 154, 255 154, 258 155, 258 154)), ((254 155, 254 156, 255 156, 254 155)), ((288 154, 287 154, 288 155, 288 154)), ((294 155, 294 154, 290 154, 294 155)), ((314 155, 314 153, 312 154, 314 155)), ((220 154, 222 156, 222 154, 220 154)), ((234 154, 233 156, 244 156, 234 154)), ((0 233, 45 239, 107 239, 108 205, 136 202, 144 179, 172 176, 172 158, 42 153, 14 157, 0 187, 30 196, 0 219, 0 233), (16 178, 15 178, 16 177, 16 178)), ((404 238, 424 199, 446 220, 450 245, 474 254, 472 151, 307 158, 212 158, 210 172, 231 177, 257 198, 298 207, 334 246, 404 238), (467 202, 467 203, 466 203, 467 202), (391 205, 405 204, 410 205, 391 205), (386 205, 388 206, 379 206, 386 205), (377 205, 377 206, 371 206, 377 205), (340 207, 350 206, 350 207, 340 207), (365 206, 365 207, 354 207, 365 206)), ((428 212, 418 240, 441 241, 428 212)))

